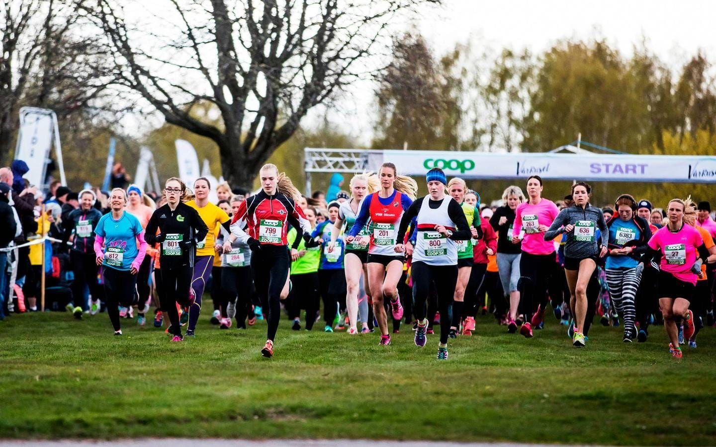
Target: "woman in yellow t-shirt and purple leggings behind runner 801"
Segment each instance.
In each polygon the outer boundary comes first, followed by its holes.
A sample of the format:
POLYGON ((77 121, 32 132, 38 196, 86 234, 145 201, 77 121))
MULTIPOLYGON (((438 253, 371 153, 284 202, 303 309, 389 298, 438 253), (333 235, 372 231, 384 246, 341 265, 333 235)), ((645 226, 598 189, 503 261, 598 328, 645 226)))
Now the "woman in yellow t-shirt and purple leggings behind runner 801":
POLYGON ((222 225, 226 232, 229 232, 229 218, 226 212, 220 207, 209 202, 209 180, 199 177, 194 181, 194 200, 189 200, 186 205, 194 208, 208 228, 208 233, 203 240, 196 245, 196 257, 194 261, 193 276, 191 277, 191 288, 189 293, 193 295, 194 301, 189 308, 189 325, 186 329, 188 337, 194 337, 196 322, 199 320, 201 311, 201 298, 204 294, 206 283, 211 275, 214 262, 214 240, 218 226, 222 225))

